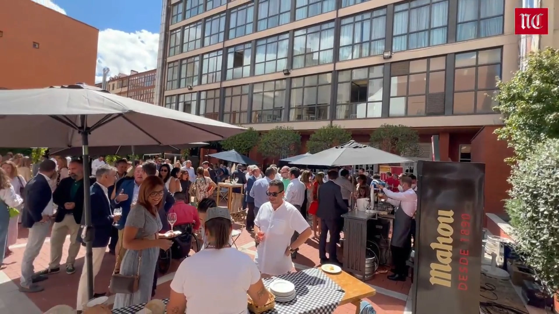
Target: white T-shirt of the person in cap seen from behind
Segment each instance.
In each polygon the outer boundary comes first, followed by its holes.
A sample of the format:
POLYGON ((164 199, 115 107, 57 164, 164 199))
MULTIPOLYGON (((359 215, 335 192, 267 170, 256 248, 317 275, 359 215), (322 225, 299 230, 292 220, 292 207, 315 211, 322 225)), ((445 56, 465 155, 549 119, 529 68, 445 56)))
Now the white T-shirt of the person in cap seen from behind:
POLYGON ((170 287, 186 297, 186 314, 246 314, 248 288, 259 279, 247 254, 205 249, 182 261, 170 287))

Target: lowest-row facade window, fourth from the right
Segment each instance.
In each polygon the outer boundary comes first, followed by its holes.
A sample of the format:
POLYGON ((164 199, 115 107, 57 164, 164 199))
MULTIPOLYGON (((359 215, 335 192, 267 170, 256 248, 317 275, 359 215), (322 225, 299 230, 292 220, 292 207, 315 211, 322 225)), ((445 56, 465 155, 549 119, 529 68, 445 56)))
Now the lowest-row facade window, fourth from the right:
POLYGON ((331 73, 293 78, 289 121, 328 120, 331 84, 331 73))

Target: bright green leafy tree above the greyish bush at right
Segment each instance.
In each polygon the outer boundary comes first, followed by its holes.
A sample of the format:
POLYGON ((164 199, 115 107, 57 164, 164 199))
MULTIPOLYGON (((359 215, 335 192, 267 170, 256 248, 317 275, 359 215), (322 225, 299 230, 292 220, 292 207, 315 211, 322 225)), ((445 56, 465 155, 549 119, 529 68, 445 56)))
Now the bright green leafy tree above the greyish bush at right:
POLYGON ((503 115, 504 125, 495 131, 508 141, 515 156, 523 160, 546 139, 559 138, 559 50, 547 48, 530 54, 527 68, 508 82, 499 81, 494 108, 503 115))

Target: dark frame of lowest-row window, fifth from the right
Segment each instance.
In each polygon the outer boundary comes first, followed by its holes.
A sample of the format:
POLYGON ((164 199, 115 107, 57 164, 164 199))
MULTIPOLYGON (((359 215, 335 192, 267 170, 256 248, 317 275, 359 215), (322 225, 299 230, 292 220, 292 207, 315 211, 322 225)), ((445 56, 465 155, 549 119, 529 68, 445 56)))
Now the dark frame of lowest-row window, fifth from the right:
POLYGON ((285 110, 285 103, 286 103, 286 99, 287 99, 287 80, 286 79, 277 79, 277 80, 269 80, 267 82, 259 82, 259 83, 254 83, 253 86, 253 92, 252 92, 252 111, 250 112, 250 123, 277 123, 277 122, 282 122, 283 121, 283 112, 285 110), (278 88, 278 84, 281 84, 281 82, 283 82, 283 88, 278 88), (273 89, 266 89, 266 83, 273 83, 273 89), (262 84, 262 91, 257 91, 257 84, 262 84), (282 103, 278 103, 278 107, 276 107, 276 100, 280 101, 280 97, 276 96, 276 92, 283 92, 283 99, 282 99, 282 103), (264 96, 266 95, 266 93, 272 93, 273 97, 272 97, 272 109, 264 109, 264 96), (260 101, 260 103, 262 104, 262 108, 259 109, 254 109, 254 104, 258 102, 258 99, 256 99, 257 97, 261 97, 262 101, 260 101), (272 117, 276 116, 275 113, 278 112, 279 113, 279 120, 274 120, 274 121, 258 121, 259 118, 260 120, 262 120, 262 117, 264 116, 264 112, 267 111, 271 111, 272 112, 272 117))

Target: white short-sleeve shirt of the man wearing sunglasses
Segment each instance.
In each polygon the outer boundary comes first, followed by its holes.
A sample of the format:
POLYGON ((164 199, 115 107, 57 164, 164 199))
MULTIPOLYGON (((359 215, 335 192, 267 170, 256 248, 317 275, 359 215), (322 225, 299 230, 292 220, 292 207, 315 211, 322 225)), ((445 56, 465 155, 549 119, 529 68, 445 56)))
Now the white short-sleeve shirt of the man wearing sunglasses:
POLYGON ((264 232, 264 241, 258 245, 254 263, 263 274, 287 274, 293 268, 291 255, 285 250, 291 245, 291 236, 297 231, 300 234, 309 228, 309 223, 301 212, 288 202, 283 202, 276 211, 270 202, 262 204, 254 224, 264 232))

